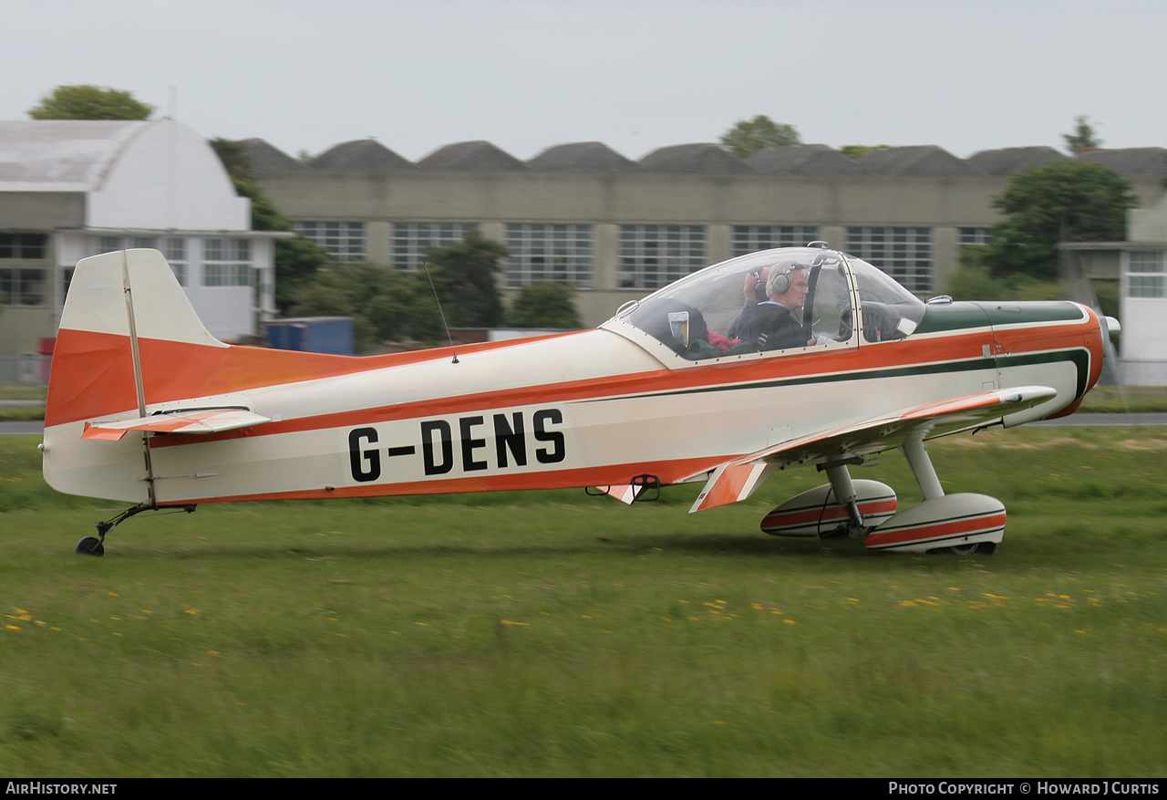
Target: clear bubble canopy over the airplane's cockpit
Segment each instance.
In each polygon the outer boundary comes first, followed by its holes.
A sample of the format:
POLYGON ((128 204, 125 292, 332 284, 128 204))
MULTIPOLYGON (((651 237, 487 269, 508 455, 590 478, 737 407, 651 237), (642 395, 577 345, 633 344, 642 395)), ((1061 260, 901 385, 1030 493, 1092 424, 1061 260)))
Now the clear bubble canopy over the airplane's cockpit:
POLYGON ((923 319, 925 308, 908 290, 862 259, 836 250, 780 248, 707 266, 643 300, 626 304, 603 327, 621 331, 631 326, 685 360, 704 361, 854 346, 857 306, 859 336, 865 342, 904 339, 923 319), (770 281, 770 290, 790 287, 805 278, 804 297, 794 290, 780 293, 777 300, 767 295, 761 287, 775 271, 789 279, 770 281), (782 320, 784 343, 776 336, 769 341, 763 336, 760 343, 752 334, 755 328, 742 324, 743 318, 760 311, 770 318, 789 318, 782 320), (790 332, 799 326, 802 334, 796 333, 791 345, 790 332))

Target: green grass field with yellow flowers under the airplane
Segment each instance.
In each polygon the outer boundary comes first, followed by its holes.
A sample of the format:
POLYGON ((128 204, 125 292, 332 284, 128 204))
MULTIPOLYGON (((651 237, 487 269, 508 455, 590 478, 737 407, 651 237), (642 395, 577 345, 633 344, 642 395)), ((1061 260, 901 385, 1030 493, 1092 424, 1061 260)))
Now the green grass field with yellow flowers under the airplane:
MULTIPOLYGON (((1167 772, 1167 433, 930 445, 1009 509, 993 556, 582 492, 141 515, 0 437, 0 773, 1153 777, 1167 772), (110 510, 113 509, 113 510, 110 510)), ((903 458, 857 476, 918 500, 903 458)))

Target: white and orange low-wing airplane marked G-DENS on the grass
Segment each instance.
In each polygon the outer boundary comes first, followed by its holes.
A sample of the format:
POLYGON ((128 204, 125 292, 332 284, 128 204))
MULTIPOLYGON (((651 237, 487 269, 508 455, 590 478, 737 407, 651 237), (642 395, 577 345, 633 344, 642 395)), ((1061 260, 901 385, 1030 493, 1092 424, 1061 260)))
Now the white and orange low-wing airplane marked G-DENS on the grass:
POLYGON ((216 340, 162 255, 127 250, 74 273, 44 476, 134 503, 78 543, 92 555, 130 516, 207 502, 588 487, 631 503, 704 481, 698 512, 799 466, 827 482, 775 508, 762 530, 992 552, 1004 506, 945 494, 924 441, 1071 413, 1102 370, 1103 338, 1085 306, 924 304, 812 243, 710 266, 594 331, 456 355, 320 355, 216 340), (806 279, 794 312, 806 343, 767 350, 726 336, 755 302, 748 276, 789 273, 791 262, 806 279), (848 471, 892 448, 923 495, 904 510, 890 487, 848 471))

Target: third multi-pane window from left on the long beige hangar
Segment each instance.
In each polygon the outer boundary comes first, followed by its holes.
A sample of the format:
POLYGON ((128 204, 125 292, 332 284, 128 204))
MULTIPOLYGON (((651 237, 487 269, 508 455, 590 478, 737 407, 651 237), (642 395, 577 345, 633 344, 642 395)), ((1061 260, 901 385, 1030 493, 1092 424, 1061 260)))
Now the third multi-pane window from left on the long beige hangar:
POLYGON ((506 225, 506 286, 544 280, 592 285, 592 225, 506 225))

